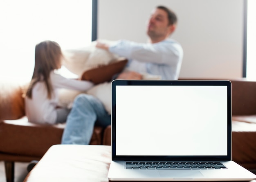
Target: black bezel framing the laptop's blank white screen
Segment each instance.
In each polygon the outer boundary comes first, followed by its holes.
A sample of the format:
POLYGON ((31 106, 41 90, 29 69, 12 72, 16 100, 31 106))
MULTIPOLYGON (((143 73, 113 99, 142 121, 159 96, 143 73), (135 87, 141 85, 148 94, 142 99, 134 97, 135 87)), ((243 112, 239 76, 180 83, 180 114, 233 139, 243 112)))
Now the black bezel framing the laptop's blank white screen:
POLYGON ((112 160, 140 161, 228 161, 231 160, 231 82, 228 80, 114 80, 112 81, 112 160), (116 155, 116 86, 227 86, 227 156, 117 156, 116 155))

